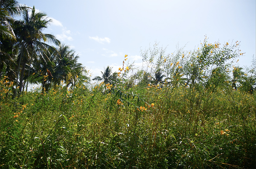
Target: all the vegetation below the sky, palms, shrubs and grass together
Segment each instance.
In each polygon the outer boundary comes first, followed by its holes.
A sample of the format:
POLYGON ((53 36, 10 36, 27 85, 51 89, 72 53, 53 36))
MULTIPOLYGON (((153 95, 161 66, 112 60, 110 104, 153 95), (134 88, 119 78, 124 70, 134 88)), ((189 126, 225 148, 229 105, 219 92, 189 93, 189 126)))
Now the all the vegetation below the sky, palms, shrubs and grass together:
POLYGON ((256 167, 255 60, 235 66, 238 41, 171 54, 155 44, 142 68, 126 55, 90 80, 73 50, 42 34, 42 14, 0 8, 0 168, 256 167))

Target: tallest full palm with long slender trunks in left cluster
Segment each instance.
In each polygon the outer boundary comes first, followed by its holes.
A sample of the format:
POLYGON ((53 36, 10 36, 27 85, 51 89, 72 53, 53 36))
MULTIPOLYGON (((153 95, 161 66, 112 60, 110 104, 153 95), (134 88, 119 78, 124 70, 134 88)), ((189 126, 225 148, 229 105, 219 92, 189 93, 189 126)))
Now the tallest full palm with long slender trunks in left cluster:
MULTIPOLYGON (((22 91, 22 86, 23 86, 23 76, 24 76, 25 66, 29 60, 29 57, 30 57, 30 60, 32 59, 34 46, 38 45, 38 47, 41 46, 42 48, 45 48, 45 46, 48 46, 47 44, 45 44, 45 42, 48 42, 48 41, 56 45, 60 44, 60 41, 58 41, 54 35, 42 33, 42 31, 45 28, 47 28, 50 22, 51 20, 47 19, 45 13, 43 12, 35 13, 35 7, 33 7, 32 9, 31 15, 29 15, 28 11, 26 10, 23 12, 23 20, 15 22, 17 27, 15 28, 14 32, 17 32, 16 35, 19 38, 19 44, 21 46, 18 69, 17 69, 17 79, 19 75, 21 58, 23 58, 22 70, 20 74, 20 92, 22 91), (25 53, 24 56, 22 56, 23 49, 27 51, 27 53, 25 53), (30 52, 32 53, 31 56, 30 56, 30 52)), ((17 89, 17 84, 18 83, 16 82, 16 89, 17 89)), ((16 94, 17 92, 15 92, 15 96, 16 94)))

